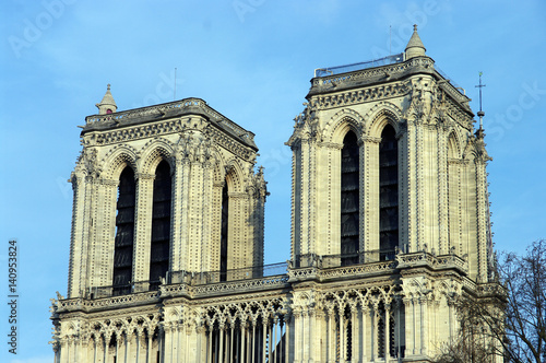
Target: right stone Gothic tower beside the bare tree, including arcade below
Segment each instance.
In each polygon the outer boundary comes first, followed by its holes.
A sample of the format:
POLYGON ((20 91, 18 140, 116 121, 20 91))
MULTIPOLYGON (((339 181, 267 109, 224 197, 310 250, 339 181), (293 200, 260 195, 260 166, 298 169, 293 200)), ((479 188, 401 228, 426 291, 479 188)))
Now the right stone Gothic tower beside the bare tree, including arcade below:
POLYGON ((483 130, 425 54, 316 70, 293 150, 295 362, 426 361, 492 274, 483 130))

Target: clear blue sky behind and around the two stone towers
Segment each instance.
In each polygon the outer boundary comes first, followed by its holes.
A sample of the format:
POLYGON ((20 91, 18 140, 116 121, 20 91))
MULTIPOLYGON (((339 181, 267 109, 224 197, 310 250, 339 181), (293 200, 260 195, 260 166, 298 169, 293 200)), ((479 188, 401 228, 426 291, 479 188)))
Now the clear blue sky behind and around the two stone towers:
MULTIPOLYGON (((118 109, 201 97, 253 131, 271 191, 265 258, 289 257, 290 152, 313 70, 401 52, 412 25, 477 112, 483 71, 494 242, 546 237, 546 2, 78 1, 0 5, 0 278, 19 244, 19 354, 52 362, 49 298, 66 294, 78 125, 106 84, 118 109), (175 68, 177 73, 175 78, 175 68)), ((0 303, 0 337, 8 309, 0 303)))

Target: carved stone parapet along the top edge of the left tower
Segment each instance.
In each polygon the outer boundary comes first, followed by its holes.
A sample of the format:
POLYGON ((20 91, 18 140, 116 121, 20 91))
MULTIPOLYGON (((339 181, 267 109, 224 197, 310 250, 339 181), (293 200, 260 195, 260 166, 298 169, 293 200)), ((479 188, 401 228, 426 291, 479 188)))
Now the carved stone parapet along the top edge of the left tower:
POLYGON ((245 130, 239 125, 235 124, 217 110, 213 109, 211 106, 206 104, 201 98, 185 98, 181 101, 175 101, 166 104, 150 106, 150 107, 141 107, 135 109, 130 109, 120 113, 114 113, 108 115, 92 115, 85 117, 86 126, 91 126, 94 124, 123 124, 131 119, 138 119, 150 116, 163 116, 167 113, 171 113, 174 110, 191 110, 192 108, 198 108, 201 113, 209 116, 212 120, 218 124, 222 128, 228 130, 229 132, 236 134, 239 138, 246 139, 250 142, 253 142, 254 133, 248 130, 245 130))

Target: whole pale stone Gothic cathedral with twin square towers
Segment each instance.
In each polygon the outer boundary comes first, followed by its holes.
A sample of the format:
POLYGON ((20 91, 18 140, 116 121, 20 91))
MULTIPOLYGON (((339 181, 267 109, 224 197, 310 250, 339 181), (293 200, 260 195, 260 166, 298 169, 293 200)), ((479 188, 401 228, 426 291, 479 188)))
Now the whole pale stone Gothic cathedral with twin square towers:
POLYGON ((253 133, 186 98, 85 118, 56 363, 429 362, 495 288, 483 128, 426 56, 317 69, 265 265, 253 133))

